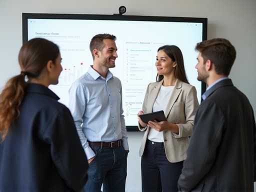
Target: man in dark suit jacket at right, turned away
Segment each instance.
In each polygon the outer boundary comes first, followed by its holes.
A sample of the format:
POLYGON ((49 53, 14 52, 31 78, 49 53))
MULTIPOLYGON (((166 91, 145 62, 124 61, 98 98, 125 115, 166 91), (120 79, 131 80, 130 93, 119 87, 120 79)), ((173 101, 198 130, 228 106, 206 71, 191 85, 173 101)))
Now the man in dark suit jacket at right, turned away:
POLYGON ((253 191, 256 127, 247 97, 228 78, 235 48, 226 39, 197 43, 195 68, 207 84, 197 109, 180 191, 253 191))

